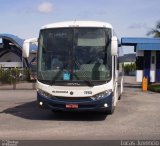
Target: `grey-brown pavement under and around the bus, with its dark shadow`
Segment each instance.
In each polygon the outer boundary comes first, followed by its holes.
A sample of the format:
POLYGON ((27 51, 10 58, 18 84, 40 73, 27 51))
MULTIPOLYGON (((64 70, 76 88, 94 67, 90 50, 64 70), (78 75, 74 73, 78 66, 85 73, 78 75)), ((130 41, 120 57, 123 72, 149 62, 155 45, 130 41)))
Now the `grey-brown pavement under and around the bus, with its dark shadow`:
POLYGON ((124 93, 113 115, 54 114, 37 107, 36 90, 0 87, 0 139, 159 140, 160 94, 142 92, 134 77, 124 80, 124 93))

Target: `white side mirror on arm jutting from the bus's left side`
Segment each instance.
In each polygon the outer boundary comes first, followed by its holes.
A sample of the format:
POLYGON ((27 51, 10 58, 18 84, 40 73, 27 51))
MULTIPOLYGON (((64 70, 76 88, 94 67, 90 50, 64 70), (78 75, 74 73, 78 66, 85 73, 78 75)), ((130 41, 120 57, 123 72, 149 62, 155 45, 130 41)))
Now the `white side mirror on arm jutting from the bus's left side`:
POLYGON ((26 39, 23 43, 22 55, 24 58, 28 58, 30 51, 37 51, 37 38, 26 39))

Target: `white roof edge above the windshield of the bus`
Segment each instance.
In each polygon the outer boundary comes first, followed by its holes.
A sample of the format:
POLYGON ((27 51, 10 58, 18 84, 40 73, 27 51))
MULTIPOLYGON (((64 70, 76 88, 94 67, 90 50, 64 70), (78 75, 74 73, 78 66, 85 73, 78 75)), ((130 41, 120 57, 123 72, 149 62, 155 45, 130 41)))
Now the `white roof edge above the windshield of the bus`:
POLYGON ((48 28, 64 28, 64 27, 105 27, 111 28, 112 25, 106 22, 99 21, 65 21, 65 22, 57 22, 52 24, 47 24, 43 26, 41 29, 48 28))

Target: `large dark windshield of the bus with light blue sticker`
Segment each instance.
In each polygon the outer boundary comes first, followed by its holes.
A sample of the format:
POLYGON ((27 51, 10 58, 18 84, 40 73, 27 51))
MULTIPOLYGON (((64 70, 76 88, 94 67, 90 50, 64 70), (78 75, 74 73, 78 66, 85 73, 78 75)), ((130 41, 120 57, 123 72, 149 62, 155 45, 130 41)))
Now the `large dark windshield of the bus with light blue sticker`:
POLYGON ((111 29, 52 28, 40 31, 38 76, 55 85, 111 79, 111 29))

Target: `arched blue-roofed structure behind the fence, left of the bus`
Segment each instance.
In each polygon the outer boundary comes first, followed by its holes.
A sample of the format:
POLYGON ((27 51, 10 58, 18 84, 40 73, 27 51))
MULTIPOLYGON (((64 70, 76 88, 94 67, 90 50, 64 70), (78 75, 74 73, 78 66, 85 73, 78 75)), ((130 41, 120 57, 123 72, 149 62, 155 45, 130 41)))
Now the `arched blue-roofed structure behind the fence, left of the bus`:
MULTIPOLYGON (((0 34, 0 66, 1 67, 29 67, 34 55, 24 58, 22 55, 24 39, 12 34, 0 34)), ((36 52, 33 44, 30 52, 36 52)))

